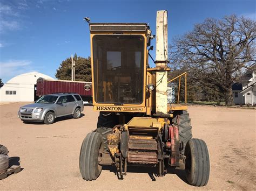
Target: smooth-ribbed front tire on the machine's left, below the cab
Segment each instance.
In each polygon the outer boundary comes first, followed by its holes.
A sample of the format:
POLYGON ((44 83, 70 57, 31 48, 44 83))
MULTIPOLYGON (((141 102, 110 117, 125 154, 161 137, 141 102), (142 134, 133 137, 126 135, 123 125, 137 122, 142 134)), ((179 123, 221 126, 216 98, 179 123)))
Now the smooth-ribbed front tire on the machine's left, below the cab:
POLYGON ((98 132, 87 134, 82 143, 79 157, 80 173, 85 180, 96 180, 102 172, 98 164, 102 136, 98 132))

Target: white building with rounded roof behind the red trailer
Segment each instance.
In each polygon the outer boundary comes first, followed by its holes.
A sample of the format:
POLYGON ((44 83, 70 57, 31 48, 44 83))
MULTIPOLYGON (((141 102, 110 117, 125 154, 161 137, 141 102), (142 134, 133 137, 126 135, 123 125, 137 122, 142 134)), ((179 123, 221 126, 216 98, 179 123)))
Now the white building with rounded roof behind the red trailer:
POLYGON ((13 77, 0 88, 0 102, 33 102, 36 100, 36 81, 39 77, 53 79, 38 72, 13 77))

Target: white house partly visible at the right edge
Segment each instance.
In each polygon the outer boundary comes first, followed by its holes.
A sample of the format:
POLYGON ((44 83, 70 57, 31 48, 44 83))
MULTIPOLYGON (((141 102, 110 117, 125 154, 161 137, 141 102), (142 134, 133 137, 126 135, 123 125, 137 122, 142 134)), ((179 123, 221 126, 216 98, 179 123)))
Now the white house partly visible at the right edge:
POLYGON ((234 83, 232 86, 233 98, 235 104, 256 104, 256 65, 246 69, 241 77, 240 83, 234 83))

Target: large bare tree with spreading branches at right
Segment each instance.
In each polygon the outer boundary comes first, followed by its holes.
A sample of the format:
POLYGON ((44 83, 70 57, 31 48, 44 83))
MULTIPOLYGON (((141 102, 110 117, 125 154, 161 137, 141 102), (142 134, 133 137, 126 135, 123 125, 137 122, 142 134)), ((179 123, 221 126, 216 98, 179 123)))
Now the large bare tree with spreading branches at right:
POLYGON ((173 40, 171 65, 186 67, 205 86, 215 86, 226 105, 233 104, 232 84, 255 63, 255 21, 235 15, 206 19, 173 40))

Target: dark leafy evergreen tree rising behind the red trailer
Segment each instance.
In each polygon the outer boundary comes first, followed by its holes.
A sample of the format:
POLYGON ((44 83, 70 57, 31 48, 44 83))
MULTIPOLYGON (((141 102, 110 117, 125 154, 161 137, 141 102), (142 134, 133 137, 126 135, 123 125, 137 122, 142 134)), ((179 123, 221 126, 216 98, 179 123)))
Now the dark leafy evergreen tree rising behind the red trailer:
MULTIPOLYGON (((83 58, 75 54, 73 60, 76 65, 76 81, 91 81, 91 58, 83 58)), ((71 57, 62 61, 55 77, 59 80, 71 80, 71 57)))

